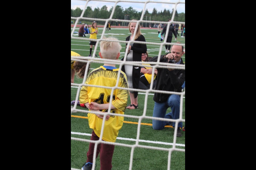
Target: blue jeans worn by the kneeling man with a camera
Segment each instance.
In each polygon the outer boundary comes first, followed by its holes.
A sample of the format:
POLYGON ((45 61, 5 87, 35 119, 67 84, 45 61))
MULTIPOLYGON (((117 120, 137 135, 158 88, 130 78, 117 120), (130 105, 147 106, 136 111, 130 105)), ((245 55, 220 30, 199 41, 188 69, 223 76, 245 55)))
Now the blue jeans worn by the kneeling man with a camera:
MULTIPOLYGON (((180 105, 179 95, 171 94, 167 101, 164 103, 155 102, 153 117, 169 118, 169 119, 179 119, 179 105, 180 105), (166 114, 167 109, 171 107, 171 112, 166 114)), ((159 121, 152 120, 153 129, 161 130, 166 125, 170 125, 172 122, 169 121, 159 121)), ((173 122, 173 127, 175 127, 175 122, 173 122)), ((178 128, 182 128, 182 122, 178 123, 178 128)))

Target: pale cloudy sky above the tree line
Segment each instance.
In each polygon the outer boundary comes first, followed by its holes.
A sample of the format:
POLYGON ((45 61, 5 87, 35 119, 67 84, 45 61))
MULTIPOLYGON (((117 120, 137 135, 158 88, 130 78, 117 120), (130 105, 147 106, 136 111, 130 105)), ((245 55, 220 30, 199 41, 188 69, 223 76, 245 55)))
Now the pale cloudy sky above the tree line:
MULTIPOLYGON (((106 1, 114 1, 114 0, 89 1, 87 6, 90 6, 92 8, 92 10, 94 10, 94 8, 97 8, 97 7, 101 8, 102 6, 106 5, 107 10, 109 11, 110 8, 115 5, 115 3, 114 2, 106 2, 106 1)), ((128 1, 146 2, 148 0, 128 0, 128 1)), ((157 12, 161 12, 161 10, 163 11, 164 9, 166 9, 166 10, 169 9, 171 11, 175 6, 175 4, 159 3, 159 2, 173 2, 173 3, 179 2, 179 0, 150 0, 150 1, 157 2, 157 3, 147 3, 146 9, 150 13, 152 13, 153 8, 156 8, 157 12)), ((185 0, 180 0, 180 2, 185 2, 185 0)), ((79 7, 83 10, 85 5, 86 5, 86 1, 71 0, 71 9, 75 9, 75 8, 79 7)), ((118 2, 117 5, 120 5, 121 7, 123 7, 123 10, 125 10, 125 8, 133 7, 133 9, 140 12, 144 8, 145 3, 118 2)), ((185 3, 180 3, 177 5, 177 12, 185 13, 185 3)))

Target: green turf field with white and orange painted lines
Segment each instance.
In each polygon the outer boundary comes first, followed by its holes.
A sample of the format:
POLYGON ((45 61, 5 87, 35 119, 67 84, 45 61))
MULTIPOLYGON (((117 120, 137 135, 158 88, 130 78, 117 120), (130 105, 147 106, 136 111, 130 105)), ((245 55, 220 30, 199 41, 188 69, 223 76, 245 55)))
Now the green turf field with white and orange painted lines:
MULTIPOLYGON (((72 31, 72 29, 71 29, 72 31)), ((78 31, 76 29, 75 31, 78 31)), ((99 39, 102 35, 103 28, 99 28, 99 33, 97 38, 99 39)), ((147 49, 150 57, 157 56, 159 53, 160 39, 158 38, 157 29, 141 29, 146 42, 159 43, 159 45, 147 44, 147 49)), ((113 36, 118 40, 125 41, 126 37, 130 35, 128 27, 126 29, 111 28, 111 31, 106 30, 105 36, 113 36)), ((74 36, 77 36, 74 35, 74 36)), ((181 31, 179 31, 179 36, 177 41, 185 44, 185 38, 181 38, 181 31)), ((89 38, 89 35, 86 36, 89 38)), ((74 51, 81 56, 88 56, 90 53, 89 40, 78 40, 71 39, 71 51, 74 51)), ((172 43, 177 42, 173 38, 172 43)), ((120 59, 124 57, 125 44, 121 43, 122 50, 120 59)), ((185 48, 185 46, 184 46, 185 48)), ((94 47, 93 47, 94 50, 94 47)), ((100 48, 97 48, 97 55, 100 48)), ((165 47, 163 46, 162 53, 165 54, 165 47)), ((99 56, 99 55, 98 55, 99 56)), ((182 60, 185 63, 185 54, 182 56, 182 60)), ((103 65, 101 63, 91 63, 91 69, 95 69, 103 65)), ((119 67, 116 65, 116 67, 119 67)), ((74 83, 82 83, 83 79, 75 77, 74 83)), ((75 100, 78 88, 71 87, 71 101, 75 100)), ((150 94, 153 94, 152 92, 150 94)), ((128 104, 130 104, 130 98, 128 99, 128 104)), ((145 104, 145 92, 139 92, 138 95, 138 109, 126 109, 126 115, 132 116, 142 116, 145 104)), ((153 115, 154 101, 153 95, 148 95, 146 104, 146 116, 153 115)), ((80 106, 77 109, 87 110, 80 106)), ((170 108, 167 111, 171 111, 170 108)), ((76 113, 71 113, 71 137, 90 139, 90 134, 92 130, 89 128, 87 113, 82 113, 77 111, 76 113), (76 134, 81 133, 81 134, 76 134)), ((183 119, 185 119, 185 96, 183 97, 183 119)), ((136 139, 137 129, 138 129, 138 118, 124 118, 124 123, 122 129, 119 131, 117 143, 135 145, 135 141, 128 141, 126 138, 136 139)), ((152 119, 144 118, 141 120, 142 124, 139 130, 139 145, 141 146, 153 146, 156 148, 173 148, 172 143, 174 143, 174 128, 172 126, 165 127, 163 130, 153 130, 152 119), (165 143, 161 143, 165 142, 165 143)), ((185 122, 183 122, 183 127, 185 127, 185 122)), ((183 170, 185 169, 185 131, 182 131, 182 137, 177 137, 175 148, 182 149, 180 151, 171 152, 171 162, 170 169, 183 170)), ((71 168, 81 169, 82 165, 86 162, 86 153, 89 148, 88 142, 71 140, 71 168)), ((112 170, 128 170, 130 164, 131 147, 125 146, 115 146, 112 165, 112 170)), ((99 157, 96 160, 97 167, 100 169, 99 157)), ((133 154, 133 170, 165 170, 168 164, 168 151, 156 150, 149 148, 136 147, 133 154)))

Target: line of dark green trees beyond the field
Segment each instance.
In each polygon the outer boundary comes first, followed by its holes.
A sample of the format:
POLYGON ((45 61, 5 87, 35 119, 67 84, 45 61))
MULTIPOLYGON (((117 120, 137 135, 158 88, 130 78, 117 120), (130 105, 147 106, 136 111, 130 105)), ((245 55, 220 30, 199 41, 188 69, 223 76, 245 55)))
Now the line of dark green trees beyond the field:
MULTIPOLYGON (((99 8, 99 7, 94 8, 94 10, 92 10, 92 8, 90 6, 87 6, 83 17, 107 19, 110 17, 112 10, 113 10, 113 7, 111 7, 111 9, 108 11, 106 5, 104 5, 102 8, 99 8)), ((174 11, 173 9, 171 11, 169 9, 168 10, 164 9, 163 11, 162 10, 157 11, 157 9, 154 8, 152 13, 150 13, 146 9, 143 20, 146 20, 146 17, 147 17, 147 20, 150 19, 151 21, 167 22, 168 19, 172 17, 173 11, 174 11)), ((71 9, 71 17, 79 17, 79 16, 81 16, 81 14, 82 14, 82 10, 79 7, 77 7, 75 10, 71 9)), ((137 10, 133 9, 133 7, 125 8, 125 10, 124 10, 123 7, 117 5, 115 7, 113 19, 126 19, 126 20, 136 19, 136 20, 139 20, 141 18, 141 14, 142 14, 142 10, 141 10, 141 12, 138 12, 137 10), (126 15, 126 18, 125 18, 125 15, 126 15)), ((93 22, 91 20, 90 21, 89 20, 81 20, 81 22, 83 22, 83 21, 89 25, 91 24, 90 22, 93 22)), ((174 21, 185 22, 185 13, 183 13, 183 12, 178 13, 176 10, 175 16, 174 16, 174 21)), ((103 21, 98 21, 97 23, 105 24, 105 22, 103 22, 103 21)), ((143 26, 145 27, 145 23, 143 26)), ((146 26, 149 26, 149 24, 147 24, 146 26)), ((151 27, 153 27, 153 25, 151 27)))

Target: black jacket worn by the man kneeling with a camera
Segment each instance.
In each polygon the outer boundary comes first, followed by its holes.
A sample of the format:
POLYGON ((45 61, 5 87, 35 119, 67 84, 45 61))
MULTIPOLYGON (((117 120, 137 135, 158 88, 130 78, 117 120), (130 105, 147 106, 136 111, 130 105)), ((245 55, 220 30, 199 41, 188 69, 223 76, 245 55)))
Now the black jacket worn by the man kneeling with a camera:
MULTIPOLYGON (((163 59, 163 56, 160 58, 160 62, 168 62, 168 59, 163 59)), ((153 57, 150 61, 156 62, 157 57, 153 57)), ((182 59, 181 63, 184 64, 182 59)), ((182 84, 185 82, 185 70, 174 69, 169 71, 165 68, 157 68, 157 84, 155 90, 164 90, 164 91, 174 91, 181 92, 182 84)), ((170 94, 155 93, 153 100, 158 103, 166 102, 170 94)))

